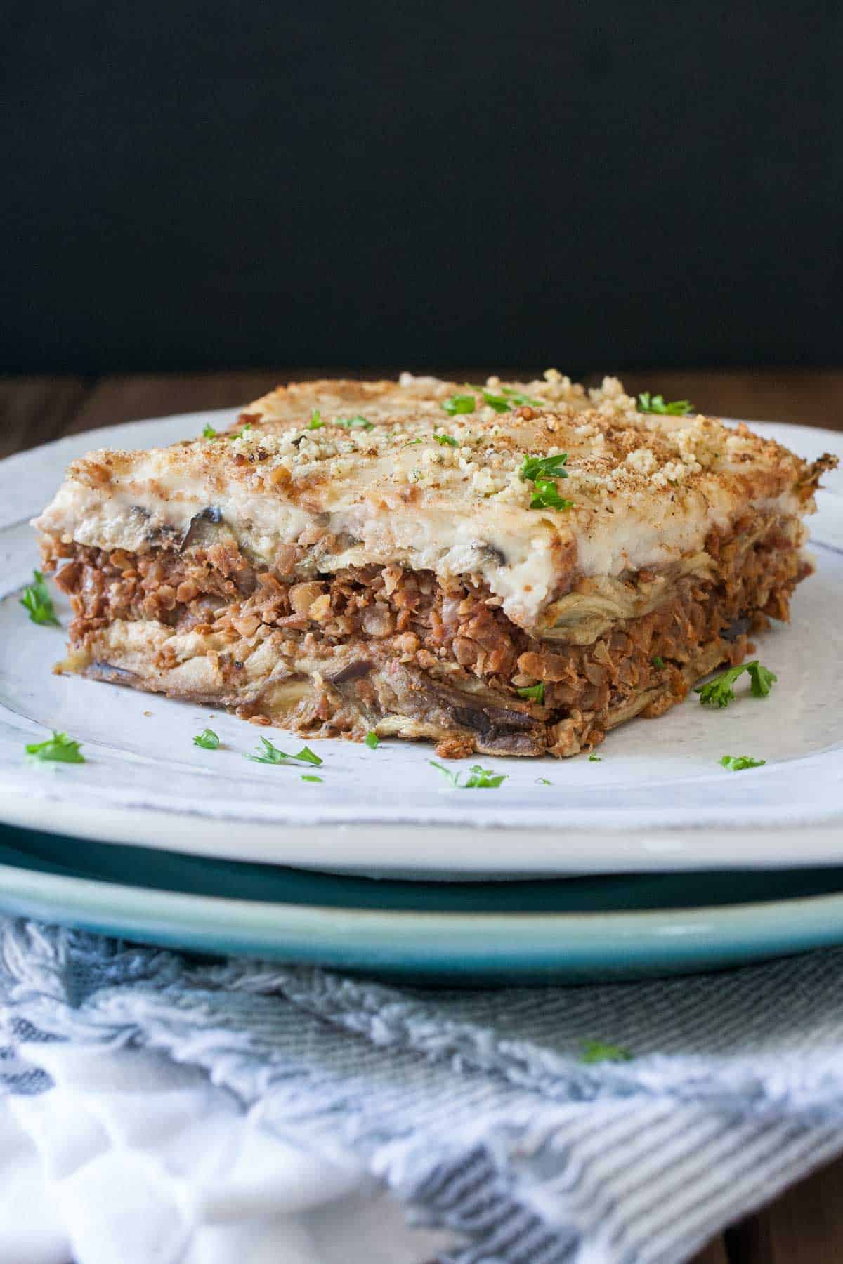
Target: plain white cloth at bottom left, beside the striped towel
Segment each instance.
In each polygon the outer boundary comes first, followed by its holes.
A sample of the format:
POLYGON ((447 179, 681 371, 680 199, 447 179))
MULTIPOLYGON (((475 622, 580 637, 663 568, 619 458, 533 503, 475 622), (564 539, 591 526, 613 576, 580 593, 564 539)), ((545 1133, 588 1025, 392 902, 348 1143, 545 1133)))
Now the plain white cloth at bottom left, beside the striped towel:
POLYGON ((20 1047, 45 1093, 0 1097, 0 1260, 420 1264, 411 1229, 348 1152, 315 1159, 196 1068, 143 1049, 20 1047))

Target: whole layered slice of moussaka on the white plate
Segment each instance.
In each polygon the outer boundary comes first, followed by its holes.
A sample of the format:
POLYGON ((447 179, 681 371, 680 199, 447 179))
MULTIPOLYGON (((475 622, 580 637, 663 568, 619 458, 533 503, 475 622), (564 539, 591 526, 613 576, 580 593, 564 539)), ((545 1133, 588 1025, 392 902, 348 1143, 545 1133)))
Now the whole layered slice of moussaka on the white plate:
POLYGON ((787 619, 830 464, 613 378, 305 382, 73 461, 35 527, 61 670, 308 737, 566 756, 787 619))

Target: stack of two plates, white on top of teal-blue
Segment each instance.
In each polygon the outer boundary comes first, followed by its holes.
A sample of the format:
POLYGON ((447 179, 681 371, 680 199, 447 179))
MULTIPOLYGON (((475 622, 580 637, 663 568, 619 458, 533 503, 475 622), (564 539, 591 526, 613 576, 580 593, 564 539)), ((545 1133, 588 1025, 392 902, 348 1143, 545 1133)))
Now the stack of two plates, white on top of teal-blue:
MULTIPOLYGON (((839 471, 819 495, 818 571, 795 623, 763 637, 768 698, 713 710, 691 696, 612 733, 594 762, 484 758, 506 774, 497 789, 452 789, 428 747, 401 742, 315 743, 322 780, 302 781, 315 770, 246 761, 260 731, 230 715, 52 675, 63 632, 18 600, 38 561, 27 520, 70 459, 229 417, 115 427, 0 464, 0 909, 451 981, 634 977, 843 943, 839 471), (193 746, 206 726, 220 750, 193 746), (87 762, 27 763, 49 728, 87 762), (732 772, 725 753, 766 763, 732 772)), ((840 449, 828 431, 753 427, 809 458, 840 449)))

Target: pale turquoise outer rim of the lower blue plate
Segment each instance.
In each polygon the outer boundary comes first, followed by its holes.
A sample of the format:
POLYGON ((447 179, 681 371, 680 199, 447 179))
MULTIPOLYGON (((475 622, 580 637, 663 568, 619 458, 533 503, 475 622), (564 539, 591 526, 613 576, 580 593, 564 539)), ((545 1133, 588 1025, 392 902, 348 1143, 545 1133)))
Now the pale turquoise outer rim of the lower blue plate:
POLYGON ((92 933, 329 968, 619 976, 729 966, 839 943, 843 891, 698 909, 441 913, 294 905, 162 891, 0 863, 1 902, 92 933))

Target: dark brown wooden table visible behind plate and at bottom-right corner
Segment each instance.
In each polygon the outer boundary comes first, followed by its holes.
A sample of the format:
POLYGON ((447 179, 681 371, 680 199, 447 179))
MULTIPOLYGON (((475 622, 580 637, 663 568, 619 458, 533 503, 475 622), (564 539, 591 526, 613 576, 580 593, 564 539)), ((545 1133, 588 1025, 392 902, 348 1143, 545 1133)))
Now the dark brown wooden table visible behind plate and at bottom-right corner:
MULTIPOLYGON (((466 368, 454 372, 454 377, 474 382, 483 372, 466 368)), ((349 369, 306 368, 0 378, 0 456, 96 426, 235 407, 264 394, 278 382, 343 373, 359 375, 349 369)), ((389 369, 367 375, 379 373, 392 375, 389 369)), ((623 380, 631 393, 653 391, 666 399, 688 398, 703 412, 843 430, 843 369, 671 369, 628 373, 623 380)), ((837 1260, 843 1261, 843 1158, 719 1235, 694 1264, 837 1260)))

